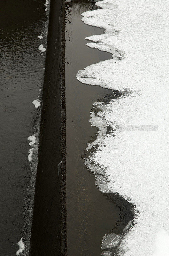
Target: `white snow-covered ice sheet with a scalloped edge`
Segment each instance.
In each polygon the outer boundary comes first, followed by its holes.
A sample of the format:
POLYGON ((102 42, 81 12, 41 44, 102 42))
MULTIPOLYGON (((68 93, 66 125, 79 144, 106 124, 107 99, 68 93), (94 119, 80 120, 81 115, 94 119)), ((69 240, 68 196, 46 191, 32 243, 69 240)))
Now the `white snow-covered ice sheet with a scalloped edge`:
POLYGON ((169 2, 104 0, 96 4, 102 9, 83 13, 82 20, 105 28, 105 34, 87 37, 92 41, 87 45, 111 53, 116 50, 121 58, 84 68, 77 79, 131 93, 103 104, 97 116, 91 113, 90 122, 98 130, 109 125, 114 132, 100 137, 90 162, 108 177, 106 188, 135 205, 134 224, 122 235, 118 255, 167 256, 169 2))

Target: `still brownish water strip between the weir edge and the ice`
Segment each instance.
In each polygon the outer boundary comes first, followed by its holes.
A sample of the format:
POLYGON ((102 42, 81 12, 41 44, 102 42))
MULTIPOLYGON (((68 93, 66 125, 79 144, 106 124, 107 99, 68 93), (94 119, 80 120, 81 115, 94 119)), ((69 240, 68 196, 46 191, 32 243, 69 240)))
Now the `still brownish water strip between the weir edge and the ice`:
POLYGON ((95 177, 81 158, 86 143, 96 133, 88 120, 94 102, 112 93, 76 80, 78 70, 111 59, 111 54, 88 48, 86 36, 104 30, 81 21, 82 12, 95 9, 94 3, 66 1, 66 141, 67 141, 67 255, 99 256, 104 234, 119 220, 119 208, 96 188, 95 177))

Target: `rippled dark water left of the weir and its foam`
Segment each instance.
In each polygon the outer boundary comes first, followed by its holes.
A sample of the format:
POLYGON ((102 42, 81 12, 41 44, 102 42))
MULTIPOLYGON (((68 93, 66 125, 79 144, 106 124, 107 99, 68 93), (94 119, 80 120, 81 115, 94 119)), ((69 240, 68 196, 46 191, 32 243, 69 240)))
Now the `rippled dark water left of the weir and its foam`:
POLYGON ((43 56, 37 49, 45 0, 1 1, 0 8, 0 255, 13 256, 22 237, 30 180, 27 137, 33 134, 43 56))

